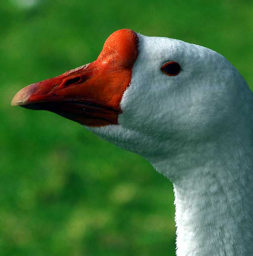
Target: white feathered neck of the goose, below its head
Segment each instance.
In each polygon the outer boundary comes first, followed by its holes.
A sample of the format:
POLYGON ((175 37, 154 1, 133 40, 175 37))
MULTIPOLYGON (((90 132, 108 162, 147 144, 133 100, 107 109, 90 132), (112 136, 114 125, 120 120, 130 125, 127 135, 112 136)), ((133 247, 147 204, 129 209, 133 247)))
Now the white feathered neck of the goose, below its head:
POLYGON ((153 164, 174 185, 177 256, 253 255, 252 141, 242 138, 153 164), (180 170, 178 158, 189 165, 180 170))

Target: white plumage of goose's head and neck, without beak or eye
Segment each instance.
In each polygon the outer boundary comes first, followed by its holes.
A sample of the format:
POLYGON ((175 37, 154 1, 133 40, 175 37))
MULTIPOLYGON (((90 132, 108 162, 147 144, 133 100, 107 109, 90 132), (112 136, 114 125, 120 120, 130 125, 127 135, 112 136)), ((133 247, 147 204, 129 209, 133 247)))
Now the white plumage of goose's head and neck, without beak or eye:
POLYGON ((253 255, 253 95, 222 55, 139 37, 118 126, 87 127, 174 184, 178 256, 253 255), (161 66, 182 70, 168 77, 161 66))

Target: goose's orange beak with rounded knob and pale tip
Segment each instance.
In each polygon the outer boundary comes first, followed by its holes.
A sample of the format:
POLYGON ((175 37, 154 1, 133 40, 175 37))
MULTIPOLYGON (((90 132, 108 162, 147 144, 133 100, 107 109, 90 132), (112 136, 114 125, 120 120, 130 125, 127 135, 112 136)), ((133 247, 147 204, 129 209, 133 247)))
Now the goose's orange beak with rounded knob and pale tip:
POLYGON ((51 111, 88 126, 118 124, 137 55, 137 34, 118 30, 107 38, 97 60, 24 87, 11 105, 51 111))

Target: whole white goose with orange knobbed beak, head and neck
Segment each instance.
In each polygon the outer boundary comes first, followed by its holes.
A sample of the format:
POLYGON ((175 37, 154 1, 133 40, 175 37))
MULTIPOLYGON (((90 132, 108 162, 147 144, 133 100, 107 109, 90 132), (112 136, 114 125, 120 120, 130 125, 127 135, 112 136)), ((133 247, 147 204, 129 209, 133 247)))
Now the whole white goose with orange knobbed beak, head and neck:
POLYGON ((253 255, 253 94, 219 53, 122 29, 11 104, 78 122, 172 181, 177 256, 253 255))

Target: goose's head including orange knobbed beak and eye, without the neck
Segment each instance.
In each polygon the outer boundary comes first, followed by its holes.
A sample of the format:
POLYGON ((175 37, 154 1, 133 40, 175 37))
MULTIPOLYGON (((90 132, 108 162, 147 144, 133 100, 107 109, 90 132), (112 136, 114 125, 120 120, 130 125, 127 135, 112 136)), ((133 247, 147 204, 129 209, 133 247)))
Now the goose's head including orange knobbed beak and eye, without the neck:
POLYGON ((109 36, 96 61, 23 88, 12 105, 79 122, 173 179, 174 169, 187 168, 177 157, 232 134, 251 101, 246 82, 219 53, 123 29, 109 36), (163 170, 165 159, 171 173, 163 170))

